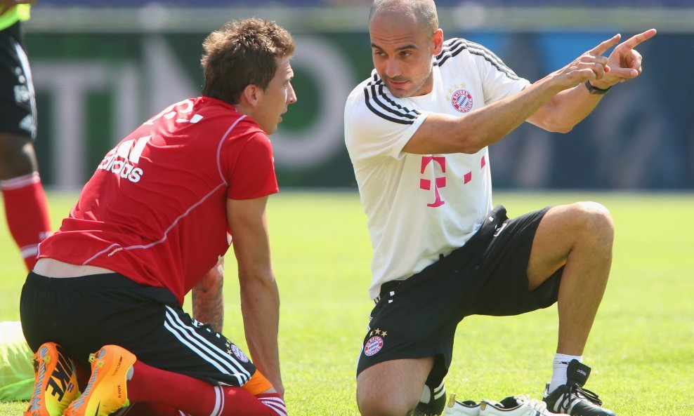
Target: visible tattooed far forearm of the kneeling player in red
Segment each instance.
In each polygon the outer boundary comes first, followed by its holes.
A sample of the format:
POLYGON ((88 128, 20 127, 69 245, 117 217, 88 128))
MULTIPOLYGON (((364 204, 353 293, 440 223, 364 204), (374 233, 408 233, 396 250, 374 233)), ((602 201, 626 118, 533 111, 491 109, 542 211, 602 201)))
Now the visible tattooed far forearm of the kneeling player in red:
POLYGON ((224 328, 224 259, 192 288, 192 317, 221 333, 224 328))

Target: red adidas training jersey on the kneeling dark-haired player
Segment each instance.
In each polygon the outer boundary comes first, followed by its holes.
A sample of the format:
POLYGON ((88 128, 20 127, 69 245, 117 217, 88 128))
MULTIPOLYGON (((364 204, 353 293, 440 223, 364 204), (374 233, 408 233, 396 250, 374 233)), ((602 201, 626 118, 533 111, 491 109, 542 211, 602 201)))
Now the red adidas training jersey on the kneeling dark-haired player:
POLYGON ((214 98, 183 100, 106 154, 39 258, 105 267, 183 304, 229 248, 226 200, 278 190, 255 121, 214 98))

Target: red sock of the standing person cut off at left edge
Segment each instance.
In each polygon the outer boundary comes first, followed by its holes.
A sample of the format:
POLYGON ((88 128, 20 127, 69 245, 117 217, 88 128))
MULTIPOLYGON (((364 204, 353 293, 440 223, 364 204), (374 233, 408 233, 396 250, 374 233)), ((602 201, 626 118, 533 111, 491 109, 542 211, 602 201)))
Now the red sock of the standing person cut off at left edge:
POLYGON ((46 194, 38 172, 0 181, 5 217, 15 243, 31 271, 36 264, 39 243, 51 234, 46 194))

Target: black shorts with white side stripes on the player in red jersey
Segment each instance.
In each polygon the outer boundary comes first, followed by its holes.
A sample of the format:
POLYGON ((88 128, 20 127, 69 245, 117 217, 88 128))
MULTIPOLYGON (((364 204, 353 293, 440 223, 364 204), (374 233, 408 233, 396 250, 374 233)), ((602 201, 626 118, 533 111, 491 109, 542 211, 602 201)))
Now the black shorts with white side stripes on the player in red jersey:
POLYGON ((190 318, 167 289, 120 274, 52 279, 30 273, 20 300, 32 351, 57 342, 76 363, 107 344, 128 349, 155 368, 240 387, 255 373, 246 354, 190 318))

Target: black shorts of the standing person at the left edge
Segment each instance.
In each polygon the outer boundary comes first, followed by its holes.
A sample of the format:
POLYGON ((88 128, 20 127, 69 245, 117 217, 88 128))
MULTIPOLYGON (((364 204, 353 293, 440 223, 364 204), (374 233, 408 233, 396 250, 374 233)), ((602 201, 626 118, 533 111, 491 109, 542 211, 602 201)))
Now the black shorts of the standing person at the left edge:
POLYGON ((0 30, 0 133, 36 138, 36 100, 20 23, 0 30))

